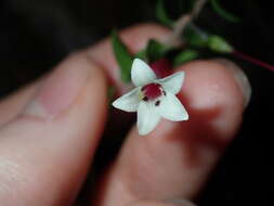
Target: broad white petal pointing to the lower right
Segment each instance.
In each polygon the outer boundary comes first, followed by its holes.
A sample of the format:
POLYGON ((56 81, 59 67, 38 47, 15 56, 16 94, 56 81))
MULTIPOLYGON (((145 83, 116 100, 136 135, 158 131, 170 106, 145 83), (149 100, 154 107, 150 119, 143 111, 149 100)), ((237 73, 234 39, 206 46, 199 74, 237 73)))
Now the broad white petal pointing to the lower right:
POLYGON ((170 92, 167 92, 167 95, 160 100, 157 110, 161 117, 169 120, 181 121, 188 119, 188 114, 180 100, 170 92))

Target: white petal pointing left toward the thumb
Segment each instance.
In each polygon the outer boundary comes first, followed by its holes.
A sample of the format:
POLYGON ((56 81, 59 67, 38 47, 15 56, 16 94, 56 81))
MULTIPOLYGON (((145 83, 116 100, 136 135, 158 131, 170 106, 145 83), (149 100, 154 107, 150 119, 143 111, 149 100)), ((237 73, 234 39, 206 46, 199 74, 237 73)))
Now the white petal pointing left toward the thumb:
POLYGON ((126 112, 136 112, 140 103, 140 88, 135 88, 113 102, 113 106, 126 112))

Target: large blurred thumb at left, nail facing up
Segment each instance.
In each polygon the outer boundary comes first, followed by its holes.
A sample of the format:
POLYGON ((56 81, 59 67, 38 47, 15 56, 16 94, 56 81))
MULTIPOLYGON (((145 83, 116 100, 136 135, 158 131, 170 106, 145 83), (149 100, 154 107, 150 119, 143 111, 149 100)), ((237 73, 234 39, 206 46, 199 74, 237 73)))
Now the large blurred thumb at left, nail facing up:
POLYGON ((42 81, 0 129, 1 205, 70 203, 102 133, 106 82, 84 54, 68 57, 42 81))

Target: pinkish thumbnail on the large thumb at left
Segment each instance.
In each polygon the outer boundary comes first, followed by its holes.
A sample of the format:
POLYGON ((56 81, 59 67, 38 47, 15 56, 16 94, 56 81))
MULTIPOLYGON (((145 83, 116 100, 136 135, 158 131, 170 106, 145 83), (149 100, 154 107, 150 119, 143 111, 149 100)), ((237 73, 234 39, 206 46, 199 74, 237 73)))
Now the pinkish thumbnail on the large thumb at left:
POLYGON ((82 60, 70 57, 62 63, 41 83, 36 96, 29 102, 25 114, 54 118, 66 111, 78 96, 89 77, 89 66, 82 60))

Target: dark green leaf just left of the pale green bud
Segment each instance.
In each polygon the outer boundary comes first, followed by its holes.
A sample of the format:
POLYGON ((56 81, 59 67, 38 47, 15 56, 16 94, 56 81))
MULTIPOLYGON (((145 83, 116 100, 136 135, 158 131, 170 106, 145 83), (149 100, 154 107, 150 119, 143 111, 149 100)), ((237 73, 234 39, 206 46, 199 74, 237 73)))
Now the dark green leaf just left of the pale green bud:
POLYGON ((208 35, 199 31, 193 25, 186 26, 183 39, 191 47, 204 48, 208 43, 208 35))

